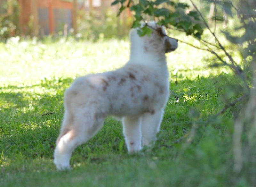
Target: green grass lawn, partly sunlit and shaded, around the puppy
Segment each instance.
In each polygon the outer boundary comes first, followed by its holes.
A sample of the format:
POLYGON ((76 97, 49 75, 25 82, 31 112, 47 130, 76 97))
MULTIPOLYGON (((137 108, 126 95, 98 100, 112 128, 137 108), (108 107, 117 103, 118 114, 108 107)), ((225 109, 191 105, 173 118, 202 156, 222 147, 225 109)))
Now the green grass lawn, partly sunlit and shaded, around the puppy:
POLYGON ((248 186, 232 173, 234 111, 212 117, 225 105, 227 82, 236 80, 225 68, 208 69, 209 54, 180 44, 167 55, 171 94, 153 147, 128 154, 121 123, 108 117, 75 150, 73 169, 60 172, 52 160, 65 89, 75 77, 122 66, 129 42, 9 42, 0 53, 1 187, 248 186))

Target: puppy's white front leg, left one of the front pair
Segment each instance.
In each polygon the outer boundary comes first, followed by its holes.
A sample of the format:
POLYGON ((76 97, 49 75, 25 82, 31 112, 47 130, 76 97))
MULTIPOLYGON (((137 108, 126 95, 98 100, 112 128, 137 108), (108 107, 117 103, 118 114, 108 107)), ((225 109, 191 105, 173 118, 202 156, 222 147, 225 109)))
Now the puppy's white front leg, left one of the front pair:
POLYGON ((141 150, 141 117, 123 117, 125 143, 129 153, 141 150))

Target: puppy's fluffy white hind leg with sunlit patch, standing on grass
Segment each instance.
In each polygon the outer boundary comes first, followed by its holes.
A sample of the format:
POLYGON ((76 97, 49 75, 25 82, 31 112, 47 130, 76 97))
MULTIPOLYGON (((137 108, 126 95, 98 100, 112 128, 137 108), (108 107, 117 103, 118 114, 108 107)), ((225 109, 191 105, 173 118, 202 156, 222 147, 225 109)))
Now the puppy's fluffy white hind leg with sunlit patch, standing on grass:
POLYGON ((103 125, 105 116, 102 113, 92 113, 90 110, 71 116, 65 112, 60 136, 54 151, 54 164, 57 169, 68 169, 74 149, 88 141, 103 125))

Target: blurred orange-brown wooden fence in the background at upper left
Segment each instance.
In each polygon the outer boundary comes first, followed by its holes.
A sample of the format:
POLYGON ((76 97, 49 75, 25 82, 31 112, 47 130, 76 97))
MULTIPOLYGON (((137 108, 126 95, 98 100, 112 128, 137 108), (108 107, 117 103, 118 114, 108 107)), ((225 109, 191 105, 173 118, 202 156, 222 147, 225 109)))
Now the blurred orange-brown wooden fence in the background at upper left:
MULTIPOLYGON (((14 0, 0 0, 8 3, 6 14, 12 14, 14 0)), ((118 7, 111 7, 113 0, 16 0, 19 5, 19 28, 22 35, 42 36, 56 34, 59 31, 66 32, 74 29, 77 34, 77 11, 98 11, 99 14, 105 9, 111 9, 117 13, 118 7)), ((3 15, 3 12, 1 13, 3 15)), ((121 19, 131 16, 125 13, 121 19)))

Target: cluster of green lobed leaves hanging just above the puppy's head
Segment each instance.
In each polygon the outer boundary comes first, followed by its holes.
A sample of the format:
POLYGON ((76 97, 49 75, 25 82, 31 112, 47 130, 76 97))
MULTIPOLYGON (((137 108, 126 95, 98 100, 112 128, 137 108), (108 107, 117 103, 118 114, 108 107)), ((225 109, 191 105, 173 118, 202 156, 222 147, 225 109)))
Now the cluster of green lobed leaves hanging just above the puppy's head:
MULTIPOLYGON (((126 8, 129 8, 134 13, 132 28, 140 27, 143 20, 154 19, 155 21, 157 20, 159 25, 173 26, 187 35, 201 38, 203 28, 199 23, 199 15, 196 11, 185 13, 185 10, 189 8, 188 4, 175 3, 171 0, 140 0, 138 3, 136 2, 134 0, 128 0, 128 2, 126 0, 115 0, 111 5, 120 5, 117 16, 126 8)), ((140 36, 149 32, 144 28, 144 32, 140 32, 140 36)))

